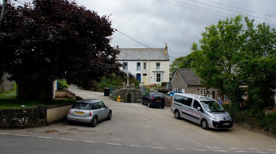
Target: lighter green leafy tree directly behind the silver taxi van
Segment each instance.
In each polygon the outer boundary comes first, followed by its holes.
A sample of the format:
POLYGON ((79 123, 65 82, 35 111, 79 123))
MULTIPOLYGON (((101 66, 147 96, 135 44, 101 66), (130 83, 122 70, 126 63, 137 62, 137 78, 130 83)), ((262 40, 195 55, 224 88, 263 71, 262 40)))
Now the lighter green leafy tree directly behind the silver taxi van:
POLYGON ((202 84, 207 88, 223 89, 236 107, 241 101, 237 62, 246 40, 241 21, 242 16, 238 15, 205 27, 199 40, 200 49, 195 44, 191 47, 194 50, 191 57, 195 59, 191 66, 203 79, 202 84))

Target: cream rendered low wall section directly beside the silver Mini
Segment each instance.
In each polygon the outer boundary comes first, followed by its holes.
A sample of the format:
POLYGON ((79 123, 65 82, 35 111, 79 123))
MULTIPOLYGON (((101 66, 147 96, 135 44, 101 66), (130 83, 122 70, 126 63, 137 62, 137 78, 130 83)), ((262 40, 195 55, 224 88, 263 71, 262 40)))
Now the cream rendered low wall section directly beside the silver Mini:
POLYGON ((47 106, 47 123, 51 124, 67 117, 69 109, 74 103, 47 106))

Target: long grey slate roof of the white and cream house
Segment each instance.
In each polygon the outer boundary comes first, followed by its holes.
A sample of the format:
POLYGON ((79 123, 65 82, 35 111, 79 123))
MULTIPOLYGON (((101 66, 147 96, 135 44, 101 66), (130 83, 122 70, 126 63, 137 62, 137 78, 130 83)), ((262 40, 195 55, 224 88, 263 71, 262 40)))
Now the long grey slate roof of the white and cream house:
POLYGON ((169 61, 168 50, 164 53, 164 48, 149 49, 149 48, 120 48, 121 52, 117 55, 117 60, 155 60, 155 61, 169 61), (157 50, 157 51, 155 51, 157 50))

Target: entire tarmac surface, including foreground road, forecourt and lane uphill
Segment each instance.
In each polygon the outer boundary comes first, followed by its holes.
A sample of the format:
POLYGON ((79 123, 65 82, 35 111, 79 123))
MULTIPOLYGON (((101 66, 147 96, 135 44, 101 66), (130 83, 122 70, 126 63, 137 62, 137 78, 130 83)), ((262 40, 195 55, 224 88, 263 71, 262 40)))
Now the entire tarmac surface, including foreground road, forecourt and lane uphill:
POLYGON ((148 108, 110 100, 101 92, 83 91, 76 86, 69 89, 85 99, 102 100, 112 109, 112 119, 94 128, 59 122, 0 130, 0 153, 27 153, 24 147, 30 150, 28 153, 87 153, 90 149, 95 153, 276 153, 275 138, 237 125, 203 130, 193 122, 175 119, 168 107, 148 108))

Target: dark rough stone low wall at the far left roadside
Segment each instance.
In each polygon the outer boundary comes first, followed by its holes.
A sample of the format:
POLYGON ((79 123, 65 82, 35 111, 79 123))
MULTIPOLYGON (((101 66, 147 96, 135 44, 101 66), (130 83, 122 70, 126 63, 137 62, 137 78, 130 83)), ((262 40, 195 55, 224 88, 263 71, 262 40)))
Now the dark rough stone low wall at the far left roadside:
POLYGON ((39 125, 39 109, 0 109, 0 129, 27 128, 39 125))

